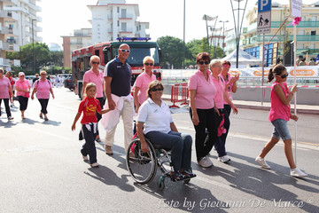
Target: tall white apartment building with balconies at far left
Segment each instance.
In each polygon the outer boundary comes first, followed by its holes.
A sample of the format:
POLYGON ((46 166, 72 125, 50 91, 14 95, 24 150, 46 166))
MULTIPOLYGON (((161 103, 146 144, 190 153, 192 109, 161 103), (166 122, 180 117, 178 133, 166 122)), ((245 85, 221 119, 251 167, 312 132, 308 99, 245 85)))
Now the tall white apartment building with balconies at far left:
POLYGON ((41 17, 41 0, 4 0, 0 1, 0 67, 19 66, 19 60, 5 59, 6 51, 19 51, 19 46, 27 43, 42 42, 37 36, 42 28, 37 27, 41 17))

